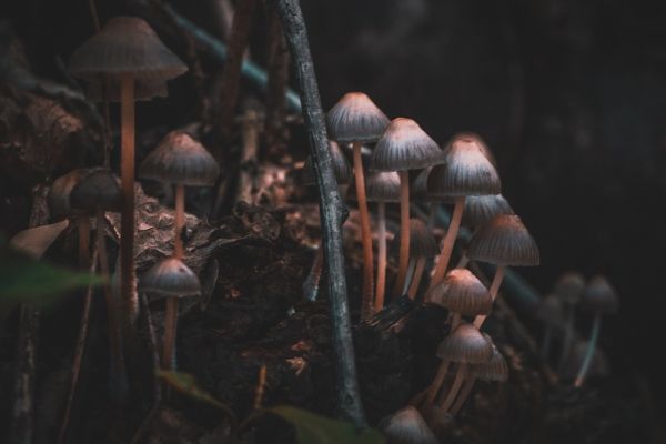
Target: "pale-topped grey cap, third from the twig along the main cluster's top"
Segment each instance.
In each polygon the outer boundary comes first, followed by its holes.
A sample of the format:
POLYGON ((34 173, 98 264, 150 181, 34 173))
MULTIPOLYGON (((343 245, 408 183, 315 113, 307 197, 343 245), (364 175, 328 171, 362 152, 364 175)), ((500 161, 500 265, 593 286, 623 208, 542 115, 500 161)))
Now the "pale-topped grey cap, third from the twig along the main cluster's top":
POLYGON ((444 151, 444 162, 433 168, 427 176, 427 192, 447 198, 500 194, 502 182, 482 144, 461 135, 444 151))

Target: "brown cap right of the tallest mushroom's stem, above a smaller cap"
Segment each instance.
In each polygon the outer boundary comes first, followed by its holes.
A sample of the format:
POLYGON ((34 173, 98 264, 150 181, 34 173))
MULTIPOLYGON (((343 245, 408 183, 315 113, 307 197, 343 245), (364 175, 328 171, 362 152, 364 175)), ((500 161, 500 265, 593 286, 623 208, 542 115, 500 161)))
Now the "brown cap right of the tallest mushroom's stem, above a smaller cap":
POLYGON ((171 131, 141 162, 144 179, 183 185, 215 183, 220 167, 205 148, 182 131, 171 131))

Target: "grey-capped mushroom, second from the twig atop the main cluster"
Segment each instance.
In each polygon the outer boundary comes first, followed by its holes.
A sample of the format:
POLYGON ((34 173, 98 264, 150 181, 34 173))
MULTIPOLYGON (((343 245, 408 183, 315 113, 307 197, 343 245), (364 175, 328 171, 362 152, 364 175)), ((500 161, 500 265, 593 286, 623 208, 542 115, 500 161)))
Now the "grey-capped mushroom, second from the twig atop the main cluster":
POLYGON ((412 119, 397 118, 377 141, 370 169, 397 171, 400 174, 400 259, 393 296, 403 289, 410 262, 410 170, 420 170, 442 162, 442 150, 412 119))

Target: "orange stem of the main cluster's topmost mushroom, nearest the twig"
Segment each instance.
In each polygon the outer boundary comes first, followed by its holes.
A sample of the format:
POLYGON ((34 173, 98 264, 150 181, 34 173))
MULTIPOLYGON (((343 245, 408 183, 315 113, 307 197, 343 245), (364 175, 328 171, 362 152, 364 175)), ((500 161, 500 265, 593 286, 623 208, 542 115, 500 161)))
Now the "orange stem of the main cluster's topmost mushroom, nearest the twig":
POLYGON ((373 261, 372 236, 370 232, 370 212, 365 198, 365 178, 363 176, 363 160, 361 158, 361 143, 354 142, 354 180, 356 182, 356 198, 359 200, 359 214, 361 215, 361 242, 363 243, 363 293, 361 301, 361 317, 372 314, 373 309, 373 261))

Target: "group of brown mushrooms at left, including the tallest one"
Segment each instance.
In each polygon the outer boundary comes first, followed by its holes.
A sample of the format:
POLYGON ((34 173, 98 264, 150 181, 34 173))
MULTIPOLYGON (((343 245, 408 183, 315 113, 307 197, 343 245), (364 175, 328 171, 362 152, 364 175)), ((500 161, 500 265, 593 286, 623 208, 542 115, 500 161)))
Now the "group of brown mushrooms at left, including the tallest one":
POLYGON ((219 165, 191 135, 172 131, 145 157, 139 168, 142 179, 175 185, 173 253, 150 269, 137 285, 134 264, 134 101, 167 97, 167 82, 186 65, 163 43, 142 19, 115 17, 72 54, 70 72, 83 79, 93 100, 120 102, 121 178, 104 168, 77 169, 54 180, 49 195, 57 216, 77 221, 79 260, 88 269, 90 231, 94 226, 99 270, 107 300, 108 335, 111 354, 112 393, 123 397, 128 389, 123 343, 135 336, 137 287, 165 299, 161 364, 175 367, 175 334, 179 297, 200 293, 199 278, 183 263, 185 186, 210 186, 219 165), (107 212, 121 213, 118 281, 110 278, 107 235, 112 233, 107 212), (95 223, 91 225, 90 216, 95 223))

